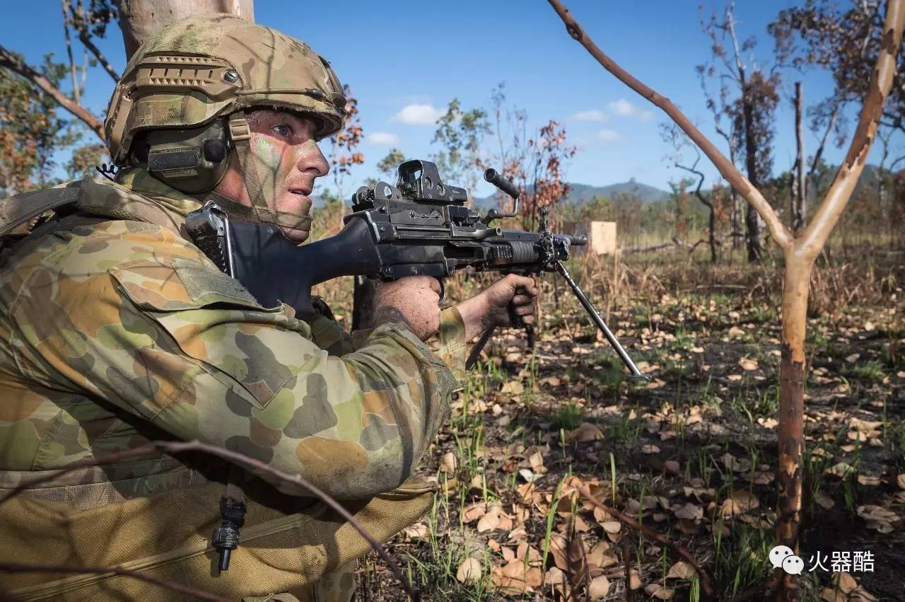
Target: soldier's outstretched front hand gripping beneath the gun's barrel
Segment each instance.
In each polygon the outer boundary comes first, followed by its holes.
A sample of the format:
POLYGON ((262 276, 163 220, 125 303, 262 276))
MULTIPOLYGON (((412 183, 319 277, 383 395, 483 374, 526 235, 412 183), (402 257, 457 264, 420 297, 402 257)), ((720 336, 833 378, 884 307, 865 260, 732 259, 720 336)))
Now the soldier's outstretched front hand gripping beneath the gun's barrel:
POLYGON ((534 278, 509 274, 477 295, 456 306, 465 322, 465 335, 472 339, 491 326, 512 326, 511 313, 525 324, 534 323, 538 287, 534 278))

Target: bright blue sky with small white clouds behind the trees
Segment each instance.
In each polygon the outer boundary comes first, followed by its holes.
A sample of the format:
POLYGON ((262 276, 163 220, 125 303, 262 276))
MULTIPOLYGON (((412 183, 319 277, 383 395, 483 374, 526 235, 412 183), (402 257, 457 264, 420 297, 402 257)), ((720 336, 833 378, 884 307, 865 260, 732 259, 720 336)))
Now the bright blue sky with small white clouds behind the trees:
MULTIPOLYGON (((721 12, 725 6, 712 0, 701 4, 704 14, 721 12)), ((769 61, 772 39, 767 23, 779 10, 796 4, 738 2, 739 35, 760 40, 755 60, 769 61)), ((725 152, 694 71, 710 57, 709 39, 700 30, 698 2, 567 0, 566 5, 605 53, 678 104, 725 152)), ((54 52, 58 60, 65 56, 58 2, 11 3, 5 16, 0 40, 6 47, 24 53, 31 63, 40 62, 47 52, 54 52)), ((665 115, 605 72, 568 36, 543 0, 346 0, 335 5, 258 0, 255 20, 310 43, 352 87, 366 136, 359 148, 366 163, 347 178, 347 193, 366 177, 376 177, 376 162, 391 147, 402 149, 407 158, 428 158, 436 150, 430 144, 431 119, 452 98, 461 100, 465 109, 489 106, 491 90, 500 82, 505 82, 510 103, 527 111, 530 128, 536 130, 548 119, 565 126, 569 141, 578 148, 565 166, 568 180, 606 185, 634 177, 668 189, 671 180, 681 177, 666 160, 670 149, 659 136, 658 124, 665 115)), ((125 57, 115 25, 99 45, 121 70, 125 57)), ((775 171, 794 161, 795 80, 804 82, 808 105, 832 90, 824 72, 786 74, 777 112, 775 171)), ((98 114, 105 110, 112 86, 100 68, 89 72, 85 103, 90 110, 98 114)), ((817 141, 813 134, 806 136, 810 153, 817 141)), ((487 148, 494 144, 489 140, 487 148)), ((323 149, 329 154, 329 144, 323 149)), ((842 155, 843 150, 835 148, 826 152, 832 162, 842 155)), ((879 145, 871 160, 879 160, 879 145)), ((706 186, 712 185, 716 170, 706 159, 700 165, 708 177, 706 186)), ((332 187, 330 180, 322 181, 332 187)), ((486 187, 479 187, 479 196, 491 192, 489 185, 481 186, 486 187)))

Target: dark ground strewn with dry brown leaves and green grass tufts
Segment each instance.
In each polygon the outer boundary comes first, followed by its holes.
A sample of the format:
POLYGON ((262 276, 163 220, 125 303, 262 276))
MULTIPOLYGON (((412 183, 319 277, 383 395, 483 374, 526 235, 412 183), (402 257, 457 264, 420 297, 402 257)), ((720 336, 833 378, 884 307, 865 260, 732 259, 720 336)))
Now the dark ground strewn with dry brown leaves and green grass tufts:
MULTIPOLYGON (((627 269, 623 282, 637 288, 623 296, 634 299, 608 300, 606 317, 649 383, 624 377, 577 304, 545 278, 534 349, 509 330, 485 350, 420 468, 440 487, 433 510, 388 545, 424 599, 703 597, 675 549, 582 490, 687 551, 715 599, 764 599, 781 570, 767 556, 779 366, 772 269, 759 284, 661 275, 653 289, 639 282, 658 280, 650 268, 627 269)), ((855 272, 828 268, 812 293, 804 570, 793 578, 805 600, 905 600, 905 278, 895 263, 860 285, 855 272), (834 288, 833 273, 850 280, 834 288), (855 293, 834 299, 846 291, 855 293)), ((405 599, 374 554, 359 578, 360 600, 405 599)))

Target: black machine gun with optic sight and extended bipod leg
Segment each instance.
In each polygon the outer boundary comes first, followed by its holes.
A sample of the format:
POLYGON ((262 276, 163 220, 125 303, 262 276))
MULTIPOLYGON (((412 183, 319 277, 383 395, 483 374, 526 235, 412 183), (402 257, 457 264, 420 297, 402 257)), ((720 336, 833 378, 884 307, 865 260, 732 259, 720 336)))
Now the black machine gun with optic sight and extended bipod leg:
MULTIPOLYGON (((433 276, 443 282, 457 270, 504 273, 558 272, 575 292, 596 327, 615 349, 633 377, 643 377, 564 262, 572 245, 584 236, 549 232, 546 208, 538 232, 503 230, 491 225, 518 213, 519 191, 494 169, 484 179, 512 197, 510 213, 491 209, 486 215, 465 205, 464 188, 443 184, 430 161, 405 161, 395 186, 377 182, 352 196, 352 214, 336 235, 296 246, 276 225, 230 219, 214 202, 186 218, 195 244, 224 272, 241 282, 265 306, 284 302, 301 318, 314 313, 311 287, 338 276, 368 276, 393 281, 405 276, 433 276)), ((472 349, 471 367, 492 329, 472 349)))

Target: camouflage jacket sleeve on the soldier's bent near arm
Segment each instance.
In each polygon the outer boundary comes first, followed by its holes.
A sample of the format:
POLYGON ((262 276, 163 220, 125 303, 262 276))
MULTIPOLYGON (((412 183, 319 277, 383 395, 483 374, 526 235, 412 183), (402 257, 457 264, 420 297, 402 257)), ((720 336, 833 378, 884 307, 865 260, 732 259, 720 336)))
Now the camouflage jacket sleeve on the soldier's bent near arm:
POLYGON ((288 306, 262 308, 172 231, 136 230, 107 222, 33 271, 15 308, 23 369, 338 499, 405 480, 448 413, 443 360, 393 323, 330 356, 288 306))

